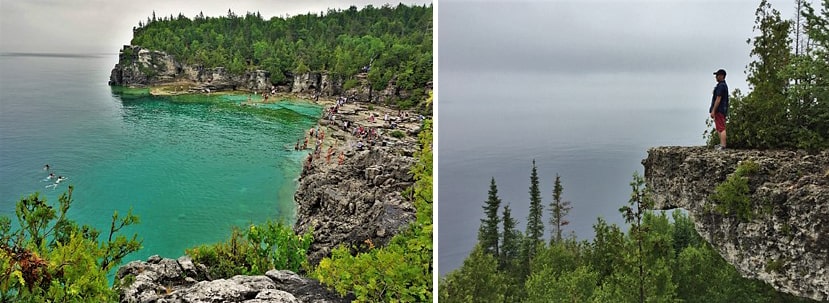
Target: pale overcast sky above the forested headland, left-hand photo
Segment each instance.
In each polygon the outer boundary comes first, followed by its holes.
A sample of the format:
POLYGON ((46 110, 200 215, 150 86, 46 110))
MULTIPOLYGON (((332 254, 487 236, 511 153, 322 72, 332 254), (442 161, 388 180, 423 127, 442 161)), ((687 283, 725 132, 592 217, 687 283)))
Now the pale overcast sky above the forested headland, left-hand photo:
MULTIPOLYGON (((328 8, 362 8, 401 1, 383 0, 0 0, 0 52, 117 53, 132 39, 132 27, 157 16, 193 18, 224 16, 231 9, 238 15, 259 11, 263 18, 319 13, 328 8)), ((428 0, 405 0, 407 4, 428 4, 428 0)))

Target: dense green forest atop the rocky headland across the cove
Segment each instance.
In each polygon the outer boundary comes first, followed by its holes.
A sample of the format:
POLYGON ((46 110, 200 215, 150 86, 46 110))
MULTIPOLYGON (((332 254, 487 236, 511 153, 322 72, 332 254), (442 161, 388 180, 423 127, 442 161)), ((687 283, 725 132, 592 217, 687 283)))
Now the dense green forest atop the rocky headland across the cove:
POLYGON ((230 10, 227 16, 199 13, 193 19, 153 12, 133 29, 131 43, 237 74, 267 70, 275 84, 309 71, 339 77, 345 89, 363 72, 374 90, 390 81, 406 90, 432 81, 431 5, 351 6, 270 20, 259 12, 238 16, 230 10))

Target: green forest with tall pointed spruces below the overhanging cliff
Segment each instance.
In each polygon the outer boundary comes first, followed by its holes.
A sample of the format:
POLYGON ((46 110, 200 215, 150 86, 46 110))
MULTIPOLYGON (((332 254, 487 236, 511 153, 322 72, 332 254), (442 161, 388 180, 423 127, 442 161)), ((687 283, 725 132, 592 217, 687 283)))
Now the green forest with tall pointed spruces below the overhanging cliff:
POLYGON ((562 236, 573 204, 563 199, 558 176, 545 226, 539 182, 533 163, 521 232, 492 179, 478 243, 440 280, 440 302, 811 302, 741 277, 686 214, 648 210, 652 200, 637 174, 628 204, 619 209, 628 231, 599 218, 592 241, 562 236))

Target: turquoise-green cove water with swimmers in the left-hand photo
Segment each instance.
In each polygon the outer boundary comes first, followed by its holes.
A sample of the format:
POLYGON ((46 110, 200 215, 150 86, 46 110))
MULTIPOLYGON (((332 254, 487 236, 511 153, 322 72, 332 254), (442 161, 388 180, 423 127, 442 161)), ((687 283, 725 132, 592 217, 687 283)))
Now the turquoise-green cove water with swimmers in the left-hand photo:
POLYGON ((104 230, 115 210, 140 216, 131 232, 144 249, 129 259, 178 257, 233 225, 293 221, 303 154, 292 147, 319 107, 113 91, 116 60, 0 55, 0 214, 34 192, 57 203, 73 185, 79 223, 104 230), (57 189, 45 188, 46 163, 68 177, 57 189))

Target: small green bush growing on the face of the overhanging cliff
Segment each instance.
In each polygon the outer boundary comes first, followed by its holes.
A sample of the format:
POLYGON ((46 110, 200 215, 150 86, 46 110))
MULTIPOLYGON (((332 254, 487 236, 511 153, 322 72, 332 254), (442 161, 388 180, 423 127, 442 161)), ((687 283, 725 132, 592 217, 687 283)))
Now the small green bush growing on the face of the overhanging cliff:
POLYGON ((759 169, 759 165, 751 160, 737 165, 734 173, 717 185, 711 195, 711 200, 717 203, 715 210, 722 215, 736 216, 741 222, 751 221, 754 212, 751 209, 748 177, 756 174, 759 169))

